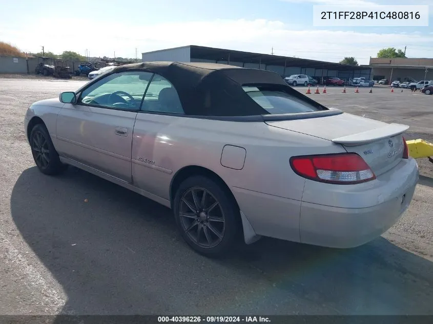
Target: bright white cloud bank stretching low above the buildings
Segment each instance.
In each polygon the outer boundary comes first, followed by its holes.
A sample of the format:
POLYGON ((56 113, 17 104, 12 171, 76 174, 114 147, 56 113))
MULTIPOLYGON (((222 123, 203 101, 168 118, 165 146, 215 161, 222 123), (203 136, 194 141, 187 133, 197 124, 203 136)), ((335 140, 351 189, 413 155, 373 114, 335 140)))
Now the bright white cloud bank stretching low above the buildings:
POLYGON ((299 30, 281 21, 223 20, 189 21, 148 26, 94 22, 98 33, 88 34, 86 20, 63 19, 60 21, 36 21, 32 30, 11 30, 0 28, 0 39, 11 41, 23 50, 61 53, 71 50, 91 56, 135 57, 141 52, 164 48, 202 45, 228 48, 240 51, 274 54, 327 60, 337 62, 344 56, 354 56, 361 64, 368 64, 369 56, 376 56, 384 47, 404 48, 409 57, 431 57, 433 35, 427 33, 370 33, 355 31, 299 30), (53 30, 49 26, 62 26, 53 30), (50 30, 49 33, 44 31, 50 30), (43 36, 46 35, 44 38, 43 36), (429 47, 431 46, 431 47, 429 47))

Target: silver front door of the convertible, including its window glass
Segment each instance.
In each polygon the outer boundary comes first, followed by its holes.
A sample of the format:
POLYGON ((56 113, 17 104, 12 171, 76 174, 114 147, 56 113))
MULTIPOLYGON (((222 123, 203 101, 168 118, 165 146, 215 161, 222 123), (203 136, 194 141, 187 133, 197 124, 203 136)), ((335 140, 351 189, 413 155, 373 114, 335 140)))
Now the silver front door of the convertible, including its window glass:
POLYGON ((131 183, 135 117, 152 73, 125 71, 98 78, 57 117, 58 152, 131 183))

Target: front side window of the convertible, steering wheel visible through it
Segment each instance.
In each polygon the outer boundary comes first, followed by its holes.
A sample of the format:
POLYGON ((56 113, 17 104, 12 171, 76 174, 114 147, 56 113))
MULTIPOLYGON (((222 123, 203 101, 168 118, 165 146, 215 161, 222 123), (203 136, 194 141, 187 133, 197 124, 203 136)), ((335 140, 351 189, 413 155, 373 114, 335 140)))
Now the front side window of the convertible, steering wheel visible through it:
POLYGON ((111 74, 84 90, 78 103, 137 111, 151 77, 142 71, 111 74))

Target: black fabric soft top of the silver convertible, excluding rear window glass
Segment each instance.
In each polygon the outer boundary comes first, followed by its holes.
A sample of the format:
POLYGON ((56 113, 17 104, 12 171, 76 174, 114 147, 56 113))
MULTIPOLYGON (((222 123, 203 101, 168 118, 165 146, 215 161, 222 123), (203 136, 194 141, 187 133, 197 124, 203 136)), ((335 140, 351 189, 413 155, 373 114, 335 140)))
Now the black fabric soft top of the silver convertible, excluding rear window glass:
MULTIPOLYGON (((289 87, 275 72, 245 69, 228 64, 143 62, 115 67, 107 75, 127 71, 145 71, 163 76, 177 91, 185 115, 210 119, 262 121, 316 118, 342 113, 328 110, 316 101, 289 87), (243 85, 279 90, 317 106, 320 112, 272 115, 256 103, 243 85), (318 114, 319 113, 319 114, 318 114), (245 117, 249 116, 249 117, 245 117)), ((102 79, 95 78, 78 92, 102 79)))

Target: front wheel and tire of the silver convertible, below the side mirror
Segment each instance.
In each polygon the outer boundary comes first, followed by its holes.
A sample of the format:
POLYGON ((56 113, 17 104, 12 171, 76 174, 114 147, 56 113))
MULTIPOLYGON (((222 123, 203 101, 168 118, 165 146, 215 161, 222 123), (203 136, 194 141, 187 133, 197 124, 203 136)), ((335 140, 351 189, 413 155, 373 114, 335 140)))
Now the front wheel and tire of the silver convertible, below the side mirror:
POLYGON ((60 162, 50 134, 44 124, 36 124, 30 133, 30 147, 33 160, 40 172, 45 175, 57 175, 66 169, 60 162))

